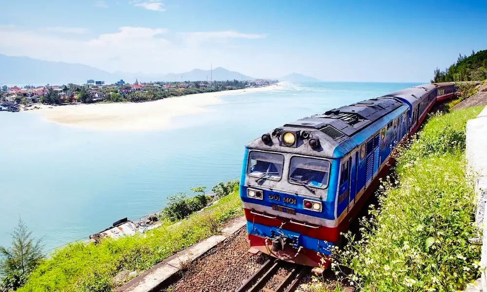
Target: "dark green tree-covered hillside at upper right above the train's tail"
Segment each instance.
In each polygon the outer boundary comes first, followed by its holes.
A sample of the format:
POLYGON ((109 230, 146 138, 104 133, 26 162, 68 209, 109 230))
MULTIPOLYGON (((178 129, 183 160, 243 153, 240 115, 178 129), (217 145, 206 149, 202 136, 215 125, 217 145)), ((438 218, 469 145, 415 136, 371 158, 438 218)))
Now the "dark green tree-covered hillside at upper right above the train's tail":
POLYGON ((434 71, 431 83, 447 81, 480 81, 487 79, 487 50, 458 57, 445 71, 434 71))

